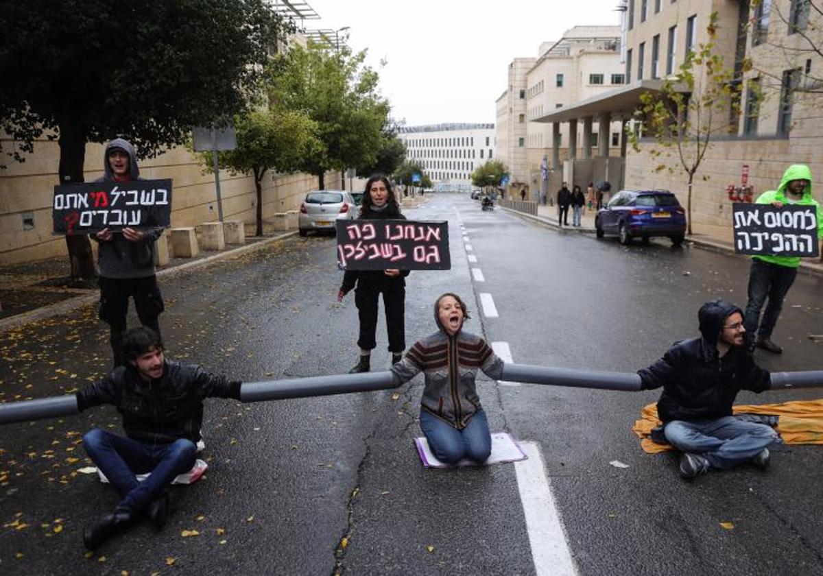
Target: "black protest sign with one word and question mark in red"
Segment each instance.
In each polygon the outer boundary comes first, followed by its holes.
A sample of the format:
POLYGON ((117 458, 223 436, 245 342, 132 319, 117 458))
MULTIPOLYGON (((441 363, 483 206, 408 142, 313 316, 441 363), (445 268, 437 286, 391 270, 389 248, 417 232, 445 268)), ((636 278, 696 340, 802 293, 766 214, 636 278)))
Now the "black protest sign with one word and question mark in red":
POLYGON ((171 224, 171 180, 63 184, 54 187, 53 234, 171 224))

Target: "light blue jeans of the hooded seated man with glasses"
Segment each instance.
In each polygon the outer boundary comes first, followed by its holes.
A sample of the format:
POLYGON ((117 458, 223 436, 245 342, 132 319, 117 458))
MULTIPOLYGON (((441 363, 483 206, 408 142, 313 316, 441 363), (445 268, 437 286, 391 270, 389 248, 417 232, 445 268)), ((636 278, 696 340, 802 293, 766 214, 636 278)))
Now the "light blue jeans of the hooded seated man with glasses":
POLYGON ((747 462, 779 440, 771 426, 744 422, 734 416, 672 420, 663 434, 668 443, 681 452, 700 454, 715 468, 731 468, 747 462))

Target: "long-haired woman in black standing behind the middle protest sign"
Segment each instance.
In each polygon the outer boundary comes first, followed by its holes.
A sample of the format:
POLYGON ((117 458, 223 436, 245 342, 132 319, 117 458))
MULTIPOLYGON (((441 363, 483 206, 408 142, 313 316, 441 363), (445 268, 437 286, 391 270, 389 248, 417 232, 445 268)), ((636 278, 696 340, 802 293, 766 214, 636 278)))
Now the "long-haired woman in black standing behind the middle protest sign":
MULTIPOLYGON (((394 197, 392 185, 383 174, 374 174, 365 183, 363 200, 360 202, 362 220, 406 220, 400 213, 398 201, 394 197)), ((388 330, 388 351, 392 353, 392 364, 400 361, 406 348, 406 276, 408 270, 346 270, 343 283, 337 291, 337 302, 352 288, 355 289, 355 304, 360 319, 360 359, 349 370, 350 374, 368 372, 371 366, 371 351, 377 347, 377 309, 380 294, 386 313, 388 330)))

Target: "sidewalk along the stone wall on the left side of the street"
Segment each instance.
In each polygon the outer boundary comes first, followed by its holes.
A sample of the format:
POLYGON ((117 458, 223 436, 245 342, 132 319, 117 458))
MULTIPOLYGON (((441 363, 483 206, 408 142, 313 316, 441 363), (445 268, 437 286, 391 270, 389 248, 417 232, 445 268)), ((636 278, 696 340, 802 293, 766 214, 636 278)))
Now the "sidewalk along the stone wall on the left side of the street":
MULTIPOLYGON (((264 223, 263 236, 248 235, 254 231, 254 226, 247 224, 245 244, 227 244, 221 252, 202 250, 194 258, 171 258, 168 266, 157 269, 157 277, 233 258, 297 234, 297 230, 276 232, 271 223, 264 223)), ((0 333, 41 318, 67 314, 100 298, 96 285, 73 284, 70 272, 66 256, 3 268, 0 271, 0 333)))

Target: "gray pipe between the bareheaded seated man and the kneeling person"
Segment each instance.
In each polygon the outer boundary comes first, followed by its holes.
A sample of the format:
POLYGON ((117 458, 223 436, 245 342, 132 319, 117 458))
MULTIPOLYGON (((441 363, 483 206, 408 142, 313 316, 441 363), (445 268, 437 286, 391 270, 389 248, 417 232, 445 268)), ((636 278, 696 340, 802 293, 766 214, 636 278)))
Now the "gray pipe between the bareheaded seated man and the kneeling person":
POLYGON ((262 402, 309 396, 329 396, 353 392, 372 392, 397 388, 391 372, 364 372, 337 376, 310 376, 267 382, 244 382, 240 386, 240 402, 262 402))

